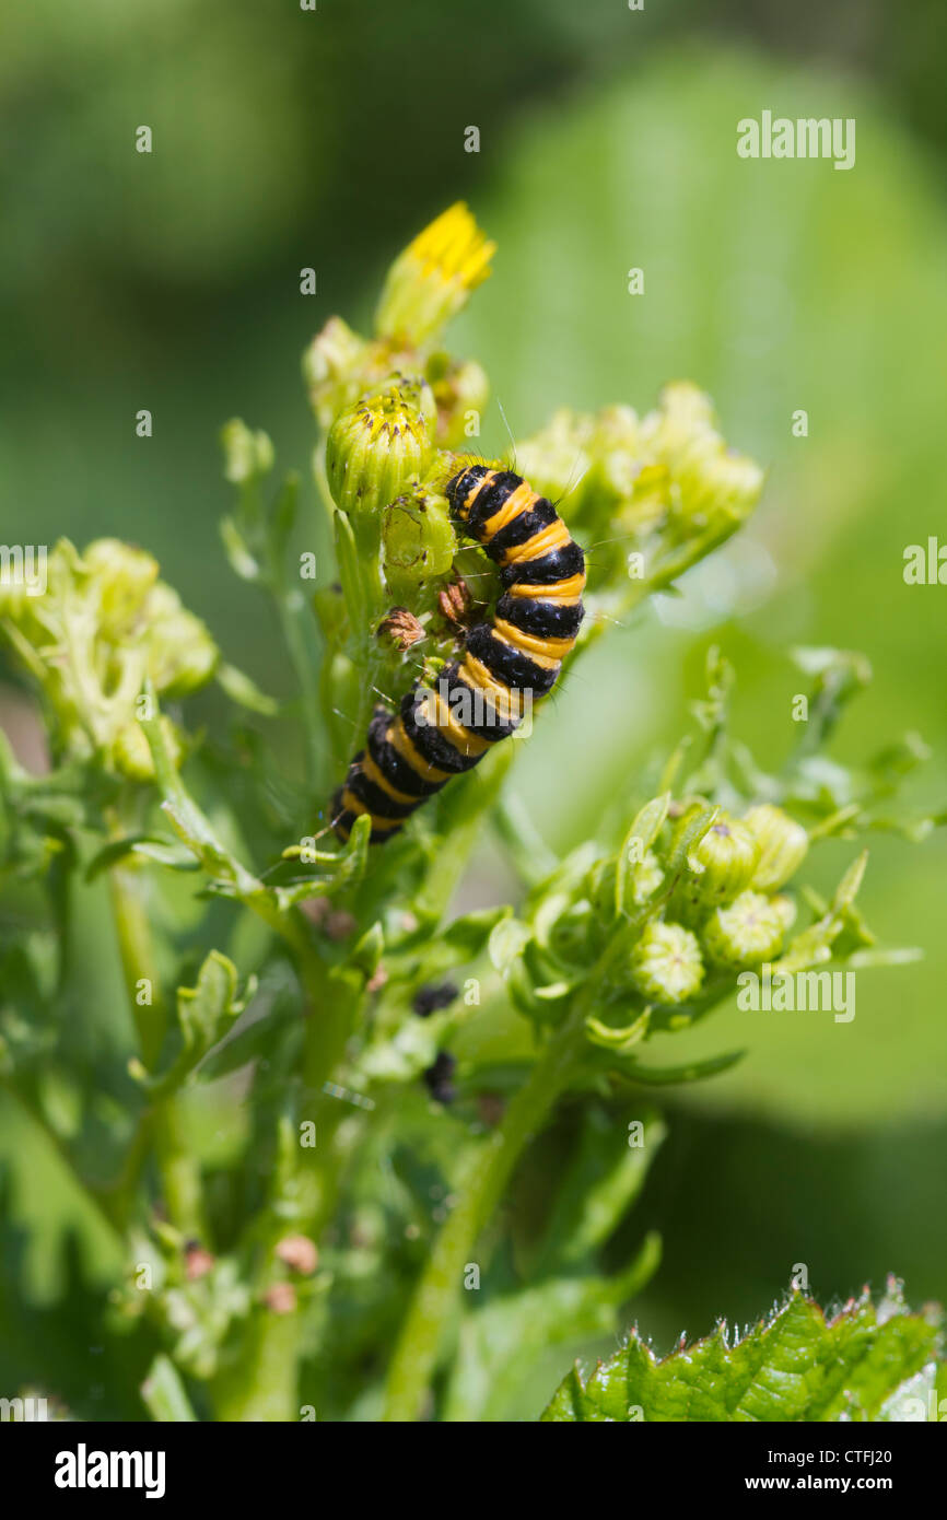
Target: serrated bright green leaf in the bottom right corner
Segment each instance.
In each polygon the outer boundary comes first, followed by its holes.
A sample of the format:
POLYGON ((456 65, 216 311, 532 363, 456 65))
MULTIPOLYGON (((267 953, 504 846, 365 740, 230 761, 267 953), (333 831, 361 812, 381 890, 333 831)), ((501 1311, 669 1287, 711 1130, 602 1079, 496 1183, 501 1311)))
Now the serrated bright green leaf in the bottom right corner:
POLYGON ((879 1420, 898 1389, 933 1363, 939 1319, 914 1315, 889 1278, 827 1318, 793 1292, 781 1309, 730 1345, 727 1325, 664 1359, 632 1332, 584 1379, 565 1377, 546 1421, 836 1421, 879 1420))

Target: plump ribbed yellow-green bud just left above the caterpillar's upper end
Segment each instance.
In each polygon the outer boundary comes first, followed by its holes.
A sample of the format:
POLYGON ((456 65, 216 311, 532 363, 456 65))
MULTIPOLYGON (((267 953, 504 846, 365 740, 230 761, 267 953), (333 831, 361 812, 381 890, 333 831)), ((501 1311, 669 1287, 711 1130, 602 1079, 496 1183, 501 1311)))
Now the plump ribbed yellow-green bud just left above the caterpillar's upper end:
POLYGON ((342 412, 325 442, 336 506, 359 517, 394 502, 427 465, 435 410, 426 385, 395 380, 342 412))

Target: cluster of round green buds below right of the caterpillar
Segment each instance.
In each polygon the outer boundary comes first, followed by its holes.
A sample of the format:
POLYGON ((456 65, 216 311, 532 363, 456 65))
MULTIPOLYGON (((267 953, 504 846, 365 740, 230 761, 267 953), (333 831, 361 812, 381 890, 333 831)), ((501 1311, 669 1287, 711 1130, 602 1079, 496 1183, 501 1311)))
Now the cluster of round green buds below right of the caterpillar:
MULTIPOLYGON (((676 819, 666 865, 699 812, 693 804, 676 819)), ((666 917, 651 921, 637 941, 631 979, 641 997, 687 1002, 707 968, 739 971, 774 961, 795 920, 795 904, 778 888, 807 848, 806 830, 778 807, 751 807, 742 819, 722 812, 687 854, 666 917)))

